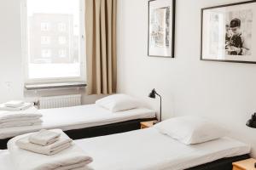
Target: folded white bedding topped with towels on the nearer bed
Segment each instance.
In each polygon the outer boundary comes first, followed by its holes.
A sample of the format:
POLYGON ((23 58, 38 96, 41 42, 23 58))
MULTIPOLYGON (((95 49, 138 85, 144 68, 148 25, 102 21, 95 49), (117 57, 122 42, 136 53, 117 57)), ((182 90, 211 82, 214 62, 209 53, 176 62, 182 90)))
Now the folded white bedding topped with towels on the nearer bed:
POLYGON ((82 170, 92 161, 60 129, 17 136, 8 150, 17 170, 82 170))

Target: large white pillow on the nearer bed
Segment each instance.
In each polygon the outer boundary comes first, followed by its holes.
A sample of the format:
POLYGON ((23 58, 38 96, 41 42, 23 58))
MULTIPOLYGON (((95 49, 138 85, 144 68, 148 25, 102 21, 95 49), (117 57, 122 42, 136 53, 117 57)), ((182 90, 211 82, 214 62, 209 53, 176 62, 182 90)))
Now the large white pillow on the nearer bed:
POLYGON ((224 137, 227 131, 196 116, 181 116, 160 122, 154 126, 160 133, 164 133, 183 144, 200 144, 209 140, 224 137))

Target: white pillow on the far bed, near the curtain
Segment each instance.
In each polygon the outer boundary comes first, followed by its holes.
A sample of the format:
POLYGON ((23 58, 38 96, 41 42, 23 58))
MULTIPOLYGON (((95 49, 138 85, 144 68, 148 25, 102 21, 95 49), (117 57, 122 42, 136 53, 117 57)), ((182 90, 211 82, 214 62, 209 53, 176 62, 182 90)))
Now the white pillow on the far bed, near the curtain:
POLYGON ((126 94, 113 94, 96 100, 96 105, 102 106, 112 112, 126 111, 139 107, 137 99, 126 94))

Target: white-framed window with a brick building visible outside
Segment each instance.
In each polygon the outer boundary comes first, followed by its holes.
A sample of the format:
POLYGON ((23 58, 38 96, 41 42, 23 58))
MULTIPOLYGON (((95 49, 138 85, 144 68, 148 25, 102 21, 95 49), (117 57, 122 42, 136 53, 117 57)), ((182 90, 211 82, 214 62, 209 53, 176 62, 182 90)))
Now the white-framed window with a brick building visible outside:
POLYGON ((84 81, 84 1, 23 0, 26 83, 84 81))

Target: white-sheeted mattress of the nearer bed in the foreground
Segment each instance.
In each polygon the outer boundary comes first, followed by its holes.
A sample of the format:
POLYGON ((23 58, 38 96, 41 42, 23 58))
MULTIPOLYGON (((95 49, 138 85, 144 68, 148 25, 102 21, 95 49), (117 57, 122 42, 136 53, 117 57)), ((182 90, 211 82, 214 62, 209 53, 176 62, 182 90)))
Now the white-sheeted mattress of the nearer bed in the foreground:
MULTIPOLYGON (((95 170, 181 170, 250 152, 247 144, 230 138, 182 144, 154 127, 75 142, 93 157, 88 169, 95 170)), ((15 170, 8 150, 0 150, 0 169, 15 170)))

